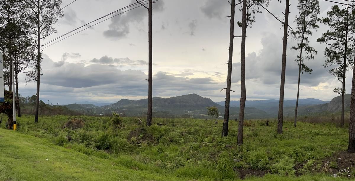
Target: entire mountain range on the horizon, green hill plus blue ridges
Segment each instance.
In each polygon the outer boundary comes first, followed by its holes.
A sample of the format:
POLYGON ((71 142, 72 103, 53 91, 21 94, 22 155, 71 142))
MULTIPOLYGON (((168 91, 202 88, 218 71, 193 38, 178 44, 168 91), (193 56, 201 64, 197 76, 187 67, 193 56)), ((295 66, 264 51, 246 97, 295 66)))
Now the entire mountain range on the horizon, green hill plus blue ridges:
MULTIPOLYGON (((85 115, 111 115, 112 112, 126 116, 144 117, 147 114, 148 99, 120 101, 108 105, 94 105, 94 102, 81 102, 66 105, 71 110, 85 115), (86 104, 89 103, 89 104, 86 104)), ((230 119, 239 117, 240 101, 230 102, 230 119)), ((275 118, 278 113, 278 100, 246 101, 245 119, 275 118)), ((284 101, 284 116, 293 116, 296 100, 284 101)), ((345 107, 350 105, 350 95, 345 95, 345 107)), ((224 114, 224 102, 213 102, 209 98, 197 94, 175 96, 170 98, 153 97, 154 117, 192 117, 207 118, 207 107, 216 106, 220 116, 224 114)), ((341 96, 332 101, 319 99, 300 99, 298 115, 307 115, 319 112, 338 112, 341 110, 341 96)))

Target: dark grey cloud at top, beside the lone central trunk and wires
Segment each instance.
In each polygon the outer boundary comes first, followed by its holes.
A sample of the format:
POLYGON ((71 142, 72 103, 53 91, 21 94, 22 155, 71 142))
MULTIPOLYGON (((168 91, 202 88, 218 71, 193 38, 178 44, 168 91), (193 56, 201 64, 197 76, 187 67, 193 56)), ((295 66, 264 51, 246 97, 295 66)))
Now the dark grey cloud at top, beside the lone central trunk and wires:
MULTIPOLYGON (((130 4, 136 3, 136 0, 131 0, 130 4)), ((163 11, 164 1, 158 1, 153 4, 154 12, 163 11)), ((137 9, 125 12, 116 12, 111 18, 109 29, 104 31, 104 36, 107 38, 124 38, 130 33, 131 23, 140 23, 148 16, 148 11, 144 7, 138 7, 137 9), (116 16, 117 15, 117 16, 116 16)))

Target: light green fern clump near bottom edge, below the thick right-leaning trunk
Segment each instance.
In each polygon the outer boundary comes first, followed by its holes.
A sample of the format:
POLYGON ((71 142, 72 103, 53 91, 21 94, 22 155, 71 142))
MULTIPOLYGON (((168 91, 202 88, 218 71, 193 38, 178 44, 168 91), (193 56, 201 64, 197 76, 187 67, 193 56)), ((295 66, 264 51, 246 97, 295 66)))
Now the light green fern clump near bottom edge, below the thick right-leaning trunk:
POLYGON ((273 164, 271 166, 271 171, 273 173, 279 174, 280 176, 294 176, 295 175, 294 161, 295 159, 289 157, 285 157, 282 160, 278 159, 279 163, 273 164))

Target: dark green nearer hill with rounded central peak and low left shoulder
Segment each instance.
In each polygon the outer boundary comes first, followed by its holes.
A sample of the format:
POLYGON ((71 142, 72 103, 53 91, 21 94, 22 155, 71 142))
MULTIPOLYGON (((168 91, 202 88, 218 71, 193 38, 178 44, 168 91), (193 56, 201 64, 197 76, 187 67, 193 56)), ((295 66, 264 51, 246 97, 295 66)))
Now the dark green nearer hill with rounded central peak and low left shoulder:
MULTIPOLYGON (((144 116, 147 113, 148 99, 128 100, 121 99, 111 105, 94 107, 94 105, 67 105, 78 112, 87 114, 110 115, 112 112, 125 113, 127 116, 144 116)), ((197 94, 189 94, 170 98, 153 97, 153 116, 159 117, 195 117, 207 118, 207 107, 216 106, 223 116, 224 106, 221 106, 211 99, 201 97, 197 94)), ((239 108, 230 108, 230 118, 239 116, 239 108)), ((245 118, 269 118, 268 113, 255 107, 246 107, 245 118)))

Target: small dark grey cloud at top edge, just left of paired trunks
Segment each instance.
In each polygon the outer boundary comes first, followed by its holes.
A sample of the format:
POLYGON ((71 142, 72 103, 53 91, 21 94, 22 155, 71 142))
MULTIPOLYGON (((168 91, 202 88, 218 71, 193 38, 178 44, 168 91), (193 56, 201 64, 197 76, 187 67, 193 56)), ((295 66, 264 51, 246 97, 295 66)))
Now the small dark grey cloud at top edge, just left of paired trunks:
POLYGON ((228 8, 228 5, 228 2, 226 1, 208 0, 200 9, 208 18, 220 19, 223 16, 225 9, 228 8))

